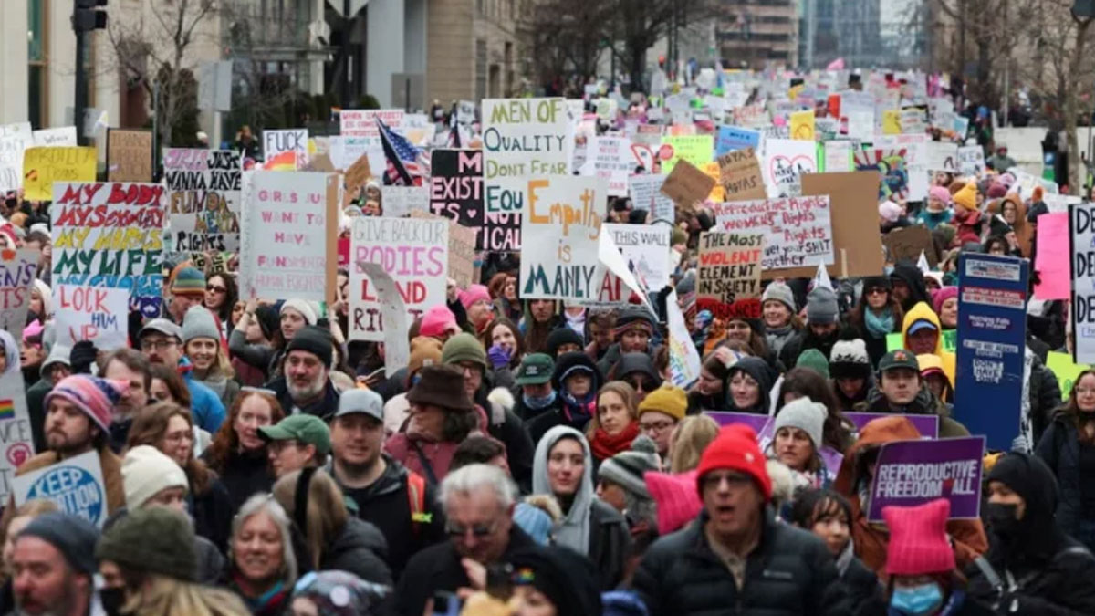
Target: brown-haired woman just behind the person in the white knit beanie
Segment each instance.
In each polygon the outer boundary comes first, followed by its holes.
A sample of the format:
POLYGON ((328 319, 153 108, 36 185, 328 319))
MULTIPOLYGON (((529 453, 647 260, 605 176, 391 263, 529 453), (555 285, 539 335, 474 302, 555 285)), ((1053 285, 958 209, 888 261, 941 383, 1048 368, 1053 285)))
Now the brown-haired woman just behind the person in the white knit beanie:
POLYGON ((232 500, 217 474, 194 457, 191 411, 173 402, 145 407, 134 418, 126 445, 151 445, 182 467, 191 488, 187 509, 194 516, 194 532, 223 550, 232 524, 232 500))

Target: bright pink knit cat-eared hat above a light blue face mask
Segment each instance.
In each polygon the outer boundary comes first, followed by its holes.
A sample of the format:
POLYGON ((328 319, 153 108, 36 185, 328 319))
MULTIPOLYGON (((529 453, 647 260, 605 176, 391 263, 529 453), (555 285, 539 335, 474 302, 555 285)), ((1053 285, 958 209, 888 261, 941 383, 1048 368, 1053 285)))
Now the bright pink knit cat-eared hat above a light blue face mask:
POLYGON ((923 575, 954 571, 955 552, 947 539, 950 501, 938 499, 919 506, 883 507, 890 543, 886 554, 889 575, 923 575))

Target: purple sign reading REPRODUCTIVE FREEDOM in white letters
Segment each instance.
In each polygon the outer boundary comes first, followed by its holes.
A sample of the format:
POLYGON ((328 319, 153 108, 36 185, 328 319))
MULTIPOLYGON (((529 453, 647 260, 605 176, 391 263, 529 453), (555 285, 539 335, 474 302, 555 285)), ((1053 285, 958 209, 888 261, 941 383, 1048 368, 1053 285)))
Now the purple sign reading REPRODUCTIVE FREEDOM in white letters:
POLYGON ((938 441, 895 441, 878 452, 867 521, 883 522, 883 507, 950 501, 952 518, 977 518, 981 511, 984 436, 938 441))

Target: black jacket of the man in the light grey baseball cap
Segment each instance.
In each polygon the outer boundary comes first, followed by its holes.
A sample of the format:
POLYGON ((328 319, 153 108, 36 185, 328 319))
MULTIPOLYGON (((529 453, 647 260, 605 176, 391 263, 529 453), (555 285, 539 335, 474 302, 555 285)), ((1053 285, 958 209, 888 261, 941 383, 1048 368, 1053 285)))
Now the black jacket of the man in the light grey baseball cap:
MULTIPOLYGON (((411 520, 411 499, 407 494, 407 477, 411 471, 403 465, 384 456, 384 472, 367 488, 347 488, 341 482, 343 494, 353 503, 356 515, 374 525, 388 543, 388 564, 392 577, 397 579, 407 560, 423 548, 443 541, 445 513, 437 502, 437 492, 426 486, 422 497, 424 513, 429 522, 411 520)), ((333 461, 327 465, 327 474, 338 482, 333 461)))

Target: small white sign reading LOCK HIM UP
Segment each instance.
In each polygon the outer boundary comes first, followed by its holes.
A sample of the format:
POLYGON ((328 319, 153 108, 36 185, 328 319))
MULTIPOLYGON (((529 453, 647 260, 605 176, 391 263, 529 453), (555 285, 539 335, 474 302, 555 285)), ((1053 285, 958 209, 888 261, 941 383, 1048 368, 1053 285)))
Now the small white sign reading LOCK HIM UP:
POLYGON ((54 301, 57 344, 71 349, 77 342, 90 340, 101 351, 128 345, 128 289, 55 285, 54 301))

